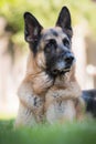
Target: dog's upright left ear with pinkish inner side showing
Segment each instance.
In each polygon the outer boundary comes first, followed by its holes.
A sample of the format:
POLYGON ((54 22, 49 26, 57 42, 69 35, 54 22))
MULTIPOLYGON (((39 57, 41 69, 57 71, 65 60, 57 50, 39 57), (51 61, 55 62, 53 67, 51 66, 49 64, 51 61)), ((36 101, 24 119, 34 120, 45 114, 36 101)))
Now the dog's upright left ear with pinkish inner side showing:
POLYGON ((26 42, 34 43, 38 41, 42 25, 30 12, 24 13, 24 39, 26 42))

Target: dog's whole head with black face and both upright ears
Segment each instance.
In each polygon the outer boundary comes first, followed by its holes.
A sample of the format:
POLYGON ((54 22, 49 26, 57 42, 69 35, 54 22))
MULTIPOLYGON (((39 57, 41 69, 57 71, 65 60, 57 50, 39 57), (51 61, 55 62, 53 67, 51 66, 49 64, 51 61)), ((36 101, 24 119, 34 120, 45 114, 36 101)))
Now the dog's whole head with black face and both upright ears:
POLYGON ((24 13, 24 37, 38 66, 52 75, 68 72, 74 63, 71 14, 63 7, 54 28, 43 29, 29 12, 24 13))

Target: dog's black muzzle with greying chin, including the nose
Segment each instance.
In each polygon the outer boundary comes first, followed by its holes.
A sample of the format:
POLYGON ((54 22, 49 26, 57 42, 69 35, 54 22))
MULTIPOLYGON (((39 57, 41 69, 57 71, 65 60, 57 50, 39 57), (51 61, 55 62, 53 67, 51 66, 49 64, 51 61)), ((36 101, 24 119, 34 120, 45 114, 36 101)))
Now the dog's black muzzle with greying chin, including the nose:
POLYGON ((62 53, 61 58, 55 62, 55 66, 53 66, 53 74, 65 74, 71 71, 72 65, 75 62, 75 58, 73 53, 62 53))

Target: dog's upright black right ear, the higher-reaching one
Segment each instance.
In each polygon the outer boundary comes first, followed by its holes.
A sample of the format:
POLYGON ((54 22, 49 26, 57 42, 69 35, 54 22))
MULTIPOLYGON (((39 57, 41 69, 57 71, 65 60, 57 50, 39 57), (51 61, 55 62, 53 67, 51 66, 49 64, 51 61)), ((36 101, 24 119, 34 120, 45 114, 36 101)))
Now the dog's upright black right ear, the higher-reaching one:
POLYGON ((66 7, 63 7, 60 14, 58 19, 56 21, 56 25, 61 27, 66 33, 72 37, 72 21, 71 21, 71 13, 66 7))

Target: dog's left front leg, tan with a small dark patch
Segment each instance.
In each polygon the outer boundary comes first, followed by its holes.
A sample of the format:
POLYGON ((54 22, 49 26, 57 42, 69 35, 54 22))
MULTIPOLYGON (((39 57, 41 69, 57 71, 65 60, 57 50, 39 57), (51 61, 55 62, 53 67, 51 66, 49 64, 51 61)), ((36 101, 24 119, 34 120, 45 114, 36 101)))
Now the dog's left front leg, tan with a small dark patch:
POLYGON ((22 83, 19 92, 19 111, 15 120, 15 126, 34 125, 42 122, 44 96, 40 97, 33 93, 30 83, 22 83))

